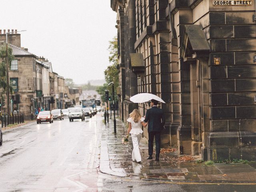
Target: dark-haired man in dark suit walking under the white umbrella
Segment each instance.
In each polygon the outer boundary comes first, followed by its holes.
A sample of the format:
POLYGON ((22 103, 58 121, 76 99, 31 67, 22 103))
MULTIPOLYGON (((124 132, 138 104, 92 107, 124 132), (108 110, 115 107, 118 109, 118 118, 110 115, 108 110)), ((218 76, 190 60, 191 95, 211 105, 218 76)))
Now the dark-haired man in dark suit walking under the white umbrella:
POLYGON ((159 161, 160 156, 160 132, 164 127, 165 118, 162 109, 157 107, 158 101, 152 99, 152 108, 148 109, 146 112, 146 117, 144 122, 148 122, 148 158, 153 159, 153 141, 155 137, 156 142, 156 161, 159 161))

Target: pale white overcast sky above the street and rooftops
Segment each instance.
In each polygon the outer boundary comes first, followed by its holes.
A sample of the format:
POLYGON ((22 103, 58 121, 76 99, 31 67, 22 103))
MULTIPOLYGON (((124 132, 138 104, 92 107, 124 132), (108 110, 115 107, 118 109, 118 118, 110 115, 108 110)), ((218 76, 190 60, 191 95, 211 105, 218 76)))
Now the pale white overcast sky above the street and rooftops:
POLYGON ((0 29, 27 30, 21 46, 75 83, 104 79, 117 33, 110 0, 1 0, 0 29))

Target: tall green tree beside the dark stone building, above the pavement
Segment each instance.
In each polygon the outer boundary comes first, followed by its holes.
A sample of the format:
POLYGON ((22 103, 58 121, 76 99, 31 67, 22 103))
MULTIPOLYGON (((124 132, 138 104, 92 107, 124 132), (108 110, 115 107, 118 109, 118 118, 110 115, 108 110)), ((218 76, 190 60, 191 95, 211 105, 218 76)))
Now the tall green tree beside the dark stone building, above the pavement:
MULTIPOLYGON (((108 57, 110 65, 104 71, 106 84, 104 84, 103 86, 100 86, 96 89, 98 94, 101 95, 102 101, 106 101, 105 100, 105 90, 109 90, 109 95, 112 96, 112 86, 108 86, 108 84, 110 82, 114 82, 115 90, 119 86, 117 37, 114 37, 111 41, 109 41, 108 51, 110 53, 110 56, 108 57)), ((115 100, 117 101, 117 96, 115 97, 115 100)))

